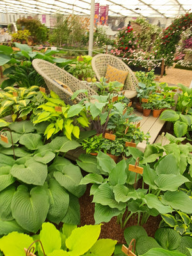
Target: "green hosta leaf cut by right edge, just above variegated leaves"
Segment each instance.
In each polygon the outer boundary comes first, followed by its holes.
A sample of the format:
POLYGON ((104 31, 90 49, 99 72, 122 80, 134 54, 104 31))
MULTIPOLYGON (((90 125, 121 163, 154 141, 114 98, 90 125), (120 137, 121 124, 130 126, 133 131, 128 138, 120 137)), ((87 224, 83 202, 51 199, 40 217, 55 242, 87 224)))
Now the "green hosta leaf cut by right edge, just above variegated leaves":
POLYGON ((161 196, 161 202, 165 205, 170 205, 175 210, 188 214, 192 213, 192 200, 182 191, 166 191, 161 196))

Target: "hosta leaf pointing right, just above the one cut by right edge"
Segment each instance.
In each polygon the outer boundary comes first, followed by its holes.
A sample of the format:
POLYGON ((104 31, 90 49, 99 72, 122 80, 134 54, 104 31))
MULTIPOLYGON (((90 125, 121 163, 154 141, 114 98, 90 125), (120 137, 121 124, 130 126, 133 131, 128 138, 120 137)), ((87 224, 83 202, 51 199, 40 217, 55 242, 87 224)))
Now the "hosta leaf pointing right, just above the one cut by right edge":
POLYGON ((166 191, 176 191, 182 184, 189 182, 183 175, 160 174, 155 180, 159 189, 166 191))

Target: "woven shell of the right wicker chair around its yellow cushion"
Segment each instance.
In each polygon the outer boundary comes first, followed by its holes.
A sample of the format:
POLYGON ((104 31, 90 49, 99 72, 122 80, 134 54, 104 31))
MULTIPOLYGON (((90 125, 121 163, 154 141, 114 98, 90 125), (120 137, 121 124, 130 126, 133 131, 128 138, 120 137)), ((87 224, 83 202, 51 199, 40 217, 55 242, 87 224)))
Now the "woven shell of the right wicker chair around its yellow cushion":
POLYGON ((97 54, 92 58, 92 68, 95 71, 97 79, 105 77, 108 64, 118 70, 128 71, 129 74, 124 83, 124 95, 131 99, 137 95, 136 88, 138 87, 138 79, 124 61, 110 54, 97 54))

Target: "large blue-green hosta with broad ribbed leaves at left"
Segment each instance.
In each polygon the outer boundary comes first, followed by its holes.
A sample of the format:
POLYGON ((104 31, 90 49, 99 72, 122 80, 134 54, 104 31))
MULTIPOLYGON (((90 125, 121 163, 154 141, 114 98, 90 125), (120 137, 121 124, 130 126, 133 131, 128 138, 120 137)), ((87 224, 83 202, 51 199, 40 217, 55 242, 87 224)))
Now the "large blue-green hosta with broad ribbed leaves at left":
POLYGON ((80 144, 59 136, 44 145, 46 127, 29 121, 9 127, 14 151, 10 132, 8 143, 0 141, 0 236, 20 230, 35 233, 45 220, 79 224, 78 198, 86 186, 79 185, 80 168, 63 155, 80 144))

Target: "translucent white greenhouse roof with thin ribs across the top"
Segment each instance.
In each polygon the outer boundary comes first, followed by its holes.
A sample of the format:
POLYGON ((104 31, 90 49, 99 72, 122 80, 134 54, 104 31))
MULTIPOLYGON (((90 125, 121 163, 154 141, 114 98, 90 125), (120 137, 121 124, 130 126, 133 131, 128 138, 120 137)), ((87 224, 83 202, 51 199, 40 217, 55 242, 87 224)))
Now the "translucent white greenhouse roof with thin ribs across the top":
MULTIPOLYGON (((192 9, 191 0, 95 0, 109 6, 109 16, 174 18, 192 9)), ((93 0, 1 0, 1 13, 90 15, 93 0), (91 4, 92 2, 92 4, 91 4)))

